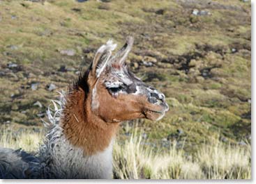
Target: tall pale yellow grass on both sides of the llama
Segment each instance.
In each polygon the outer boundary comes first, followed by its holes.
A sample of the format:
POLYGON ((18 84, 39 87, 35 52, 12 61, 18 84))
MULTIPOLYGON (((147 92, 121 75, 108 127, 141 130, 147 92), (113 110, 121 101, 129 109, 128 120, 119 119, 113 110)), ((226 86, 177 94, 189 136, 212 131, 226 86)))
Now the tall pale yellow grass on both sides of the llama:
MULTIPOLYGON (((0 145, 25 151, 37 151, 43 133, 24 131, 13 136, 8 128, 2 128, 0 145)), ((171 142, 168 151, 146 144, 142 133, 133 129, 124 142, 114 144, 114 178, 120 179, 250 179, 250 144, 224 144, 219 137, 197 146, 193 154, 186 153, 177 142, 171 142), (157 150, 157 151, 156 151, 157 150)))

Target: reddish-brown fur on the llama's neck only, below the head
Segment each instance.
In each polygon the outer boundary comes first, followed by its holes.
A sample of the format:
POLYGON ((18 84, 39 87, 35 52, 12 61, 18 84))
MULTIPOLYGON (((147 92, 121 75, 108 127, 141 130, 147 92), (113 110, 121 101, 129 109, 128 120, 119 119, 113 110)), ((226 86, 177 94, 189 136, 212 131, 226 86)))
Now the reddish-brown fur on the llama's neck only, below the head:
POLYGON ((91 98, 86 98, 84 90, 77 87, 68 95, 61 126, 70 143, 90 156, 110 145, 119 124, 104 122, 91 113, 91 98))

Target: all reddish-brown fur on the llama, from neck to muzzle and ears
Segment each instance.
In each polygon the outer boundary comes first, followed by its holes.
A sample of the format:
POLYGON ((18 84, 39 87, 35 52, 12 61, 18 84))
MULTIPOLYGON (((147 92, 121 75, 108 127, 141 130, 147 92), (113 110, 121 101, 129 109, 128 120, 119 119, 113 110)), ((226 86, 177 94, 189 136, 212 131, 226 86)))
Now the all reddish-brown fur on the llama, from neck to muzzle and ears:
MULTIPOLYGON (((130 38, 128 44, 132 44, 132 42, 133 40, 130 38)), ((124 49, 118 52, 119 58, 123 56, 128 44, 125 44, 124 49)), ((130 47, 128 47, 129 49, 130 47)), ((84 149, 84 154, 87 156, 104 151, 110 145, 118 130, 119 122, 137 118, 155 120, 160 117, 167 106, 149 103, 146 95, 142 94, 120 93, 117 96, 110 94, 104 81, 107 78, 107 73, 111 70, 106 69, 105 73, 103 72, 100 76, 96 74, 98 65, 104 64, 105 58, 110 55, 111 51, 109 50, 97 51, 89 69, 84 73, 84 76, 80 76, 68 94, 61 119, 63 133, 67 139, 74 146, 84 149), (93 89, 95 89, 94 96, 93 89), (99 106, 93 106, 93 109, 91 109, 92 96, 93 101, 96 100, 96 104, 99 104, 99 106)), ((117 56, 116 60, 119 59, 117 56)), ((114 62, 112 67, 121 69, 123 63, 114 62)))

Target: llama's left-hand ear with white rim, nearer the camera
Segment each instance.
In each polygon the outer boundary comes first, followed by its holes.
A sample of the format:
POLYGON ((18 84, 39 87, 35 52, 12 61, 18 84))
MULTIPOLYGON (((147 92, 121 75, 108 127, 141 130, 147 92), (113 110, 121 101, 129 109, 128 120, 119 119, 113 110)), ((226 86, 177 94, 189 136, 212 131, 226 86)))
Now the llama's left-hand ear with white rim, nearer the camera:
POLYGON ((100 76, 107 66, 107 62, 109 62, 111 53, 115 48, 116 44, 113 44, 112 40, 109 40, 107 44, 103 44, 103 46, 98 49, 91 65, 91 73, 93 76, 96 78, 100 76))

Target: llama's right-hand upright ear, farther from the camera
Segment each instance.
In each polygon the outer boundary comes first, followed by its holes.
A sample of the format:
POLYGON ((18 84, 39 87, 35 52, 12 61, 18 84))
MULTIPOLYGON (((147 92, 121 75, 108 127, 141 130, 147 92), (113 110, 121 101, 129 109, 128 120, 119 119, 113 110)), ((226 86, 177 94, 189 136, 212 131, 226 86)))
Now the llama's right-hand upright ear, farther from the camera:
POLYGON ((132 47, 133 37, 128 36, 126 38, 126 44, 124 44, 123 47, 111 58, 110 62, 117 62, 119 65, 123 65, 132 47))

